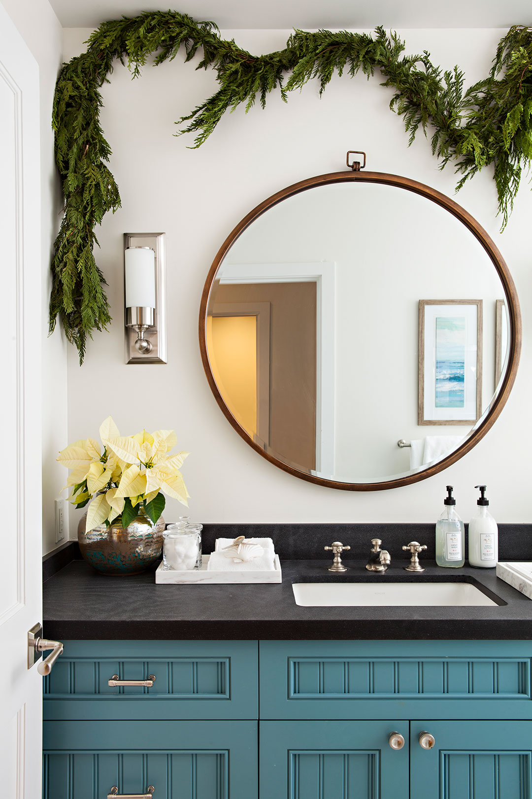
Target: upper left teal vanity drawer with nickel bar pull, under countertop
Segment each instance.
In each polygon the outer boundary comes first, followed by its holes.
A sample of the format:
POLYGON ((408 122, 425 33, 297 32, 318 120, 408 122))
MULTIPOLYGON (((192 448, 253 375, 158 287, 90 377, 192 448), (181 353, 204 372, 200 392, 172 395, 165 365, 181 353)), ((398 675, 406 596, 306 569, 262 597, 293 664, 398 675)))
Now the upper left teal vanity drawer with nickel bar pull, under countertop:
POLYGON ((255 641, 67 641, 44 682, 46 719, 258 718, 255 641), (109 686, 109 680, 152 687, 109 686))

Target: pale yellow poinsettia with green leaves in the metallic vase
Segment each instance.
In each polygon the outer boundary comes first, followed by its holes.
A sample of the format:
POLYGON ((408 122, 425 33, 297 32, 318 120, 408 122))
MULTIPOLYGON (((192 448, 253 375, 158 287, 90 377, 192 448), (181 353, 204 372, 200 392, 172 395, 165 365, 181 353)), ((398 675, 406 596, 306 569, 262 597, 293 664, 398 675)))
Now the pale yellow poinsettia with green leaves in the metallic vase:
POLYGON ((188 452, 170 455, 177 443, 173 430, 143 430, 120 435, 112 417, 100 425, 102 447, 96 439, 80 439, 65 447, 57 460, 72 469, 66 487, 70 502, 87 510, 86 530, 110 525, 121 517, 128 527, 142 511, 155 524, 166 503, 163 491, 188 505, 190 496, 179 471, 188 452))

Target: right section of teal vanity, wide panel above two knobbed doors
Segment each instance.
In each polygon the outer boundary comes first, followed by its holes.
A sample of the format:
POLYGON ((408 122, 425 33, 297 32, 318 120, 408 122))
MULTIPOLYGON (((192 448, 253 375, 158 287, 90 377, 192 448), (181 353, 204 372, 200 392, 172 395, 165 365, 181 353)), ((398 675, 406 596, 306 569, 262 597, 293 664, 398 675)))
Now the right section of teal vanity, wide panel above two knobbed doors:
POLYGON ((531 799, 531 657, 517 641, 261 642, 261 799, 531 799))

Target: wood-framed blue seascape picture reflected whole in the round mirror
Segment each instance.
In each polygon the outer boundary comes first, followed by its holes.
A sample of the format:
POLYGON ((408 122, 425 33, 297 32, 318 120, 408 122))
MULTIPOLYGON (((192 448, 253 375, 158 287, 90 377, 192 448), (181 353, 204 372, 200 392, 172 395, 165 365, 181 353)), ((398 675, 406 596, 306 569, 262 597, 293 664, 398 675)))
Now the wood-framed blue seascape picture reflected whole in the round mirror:
POLYGON ((483 300, 420 300, 418 424, 482 414, 483 300))

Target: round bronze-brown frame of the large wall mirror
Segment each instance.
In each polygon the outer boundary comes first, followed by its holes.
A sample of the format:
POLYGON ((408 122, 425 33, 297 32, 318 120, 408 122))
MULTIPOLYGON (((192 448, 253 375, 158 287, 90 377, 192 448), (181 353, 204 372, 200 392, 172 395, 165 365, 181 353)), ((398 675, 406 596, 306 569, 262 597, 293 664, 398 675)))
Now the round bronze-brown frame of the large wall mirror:
POLYGON ((207 275, 207 280, 205 281, 205 285, 203 287, 203 294, 199 308, 199 349, 203 361, 203 368, 205 370, 208 383, 211 387, 211 392, 214 394, 216 402, 219 404, 219 407, 223 411, 223 415, 225 415, 231 426, 234 427, 238 435, 240 435, 242 439, 244 439, 244 441, 246 441, 246 443, 254 449, 254 451, 258 452, 259 455, 262 455, 262 457, 266 458, 266 460, 268 460, 270 463, 273 463, 274 466, 277 466, 283 471, 288 472, 289 475, 294 475, 294 477, 306 480, 308 483, 316 483, 317 485, 329 488, 338 488, 341 491, 381 491, 387 488, 398 488, 400 486, 408 486, 411 483, 419 483, 421 480, 428 479, 429 477, 438 474, 439 471, 443 471, 443 469, 451 466, 452 463, 456 463, 456 461, 462 458, 463 455, 466 455, 466 453, 475 447, 475 444, 479 443, 480 439, 486 435, 487 431, 495 422, 495 419, 497 419, 499 416, 506 403, 506 400, 508 399, 508 396, 510 395, 510 391, 514 385, 515 376, 517 373, 519 356, 521 354, 521 339, 521 311, 519 308, 518 296, 515 290, 514 281, 510 276, 506 262, 502 258, 499 249, 496 247, 495 242, 483 229, 482 225, 479 225, 479 222, 471 217, 470 213, 467 213, 467 211, 463 209, 461 205, 455 203, 455 201, 451 200, 450 197, 447 197, 445 194, 436 191, 436 189, 432 189, 432 187, 425 185, 424 183, 412 181, 410 178, 401 177, 400 175, 392 175, 380 172, 363 172, 361 170, 333 172, 327 173, 325 175, 317 175, 317 177, 309 177, 305 181, 299 181, 298 183, 288 186, 286 189, 282 189, 281 191, 273 194, 271 197, 268 197, 260 205, 257 205, 256 208, 250 211, 250 213, 248 213, 247 216, 244 217, 242 221, 238 223, 238 225, 236 225, 227 239, 223 242, 222 246, 219 248, 219 251, 207 275), (439 463, 435 463, 433 466, 424 469, 424 471, 419 471, 415 474, 396 479, 384 480, 379 483, 341 483, 337 480, 330 480, 317 477, 316 475, 309 475, 308 472, 300 471, 290 466, 288 463, 284 463, 282 460, 279 460, 274 455, 270 455, 269 452, 264 451, 257 443, 254 442, 254 440, 243 429, 243 427, 240 426, 237 420, 234 419, 234 416, 224 402, 223 397, 219 392, 219 388, 215 382, 215 378, 211 372, 211 365, 209 363, 209 356, 207 352, 207 306, 209 296, 211 294, 211 288, 213 286, 219 265, 222 263, 223 258, 226 256, 227 252, 238 239, 238 237, 251 225, 255 219, 260 217, 274 205, 278 205, 278 203, 286 200, 286 198, 293 197, 295 194, 304 192, 307 189, 316 188, 317 186, 329 185, 333 183, 346 183, 349 181, 396 186, 399 189, 406 189, 407 191, 420 194, 421 197, 425 197, 427 200, 434 202, 436 205, 440 205, 442 208, 446 209, 449 213, 456 217, 460 222, 462 222, 462 224, 466 226, 473 236, 479 240, 479 243, 482 244, 484 250, 487 252, 487 255, 490 257, 492 264, 495 266, 506 294, 506 303, 508 314, 510 316, 510 354, 508 358, 508 367, 506 368, 506 374, 504 376, 499 394, 495 397, 495 400, 492 401, 490 411, 486 418, 483 419, 483 422, 479 424, 479 427, 473 431, 471 436, 457 450, 451 452, 451 455, 447 455, 447 457, 439 461, 439 463))

